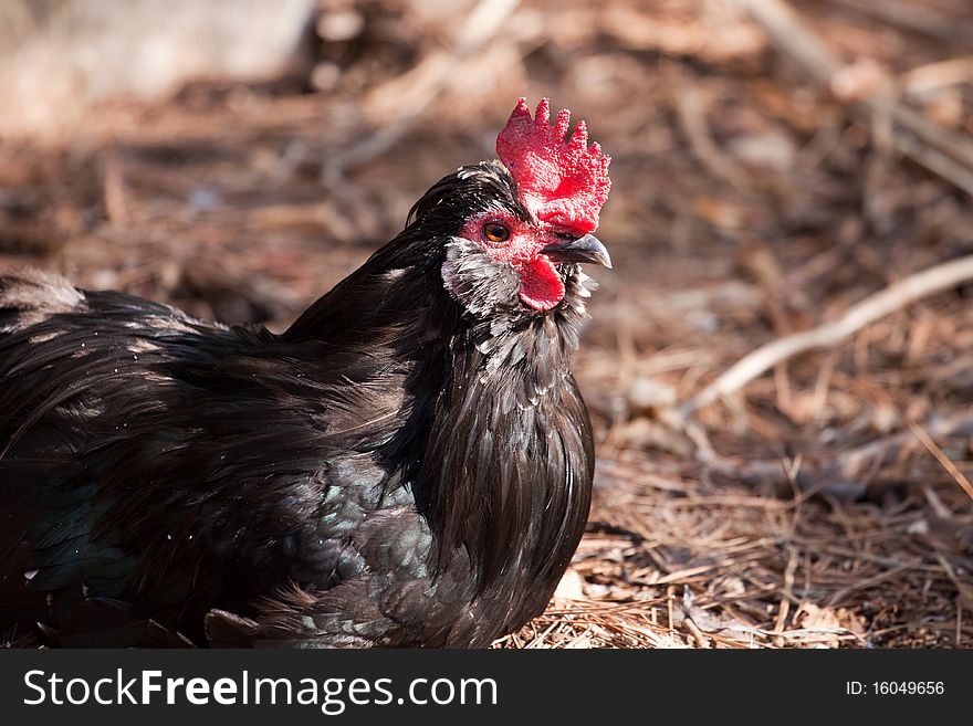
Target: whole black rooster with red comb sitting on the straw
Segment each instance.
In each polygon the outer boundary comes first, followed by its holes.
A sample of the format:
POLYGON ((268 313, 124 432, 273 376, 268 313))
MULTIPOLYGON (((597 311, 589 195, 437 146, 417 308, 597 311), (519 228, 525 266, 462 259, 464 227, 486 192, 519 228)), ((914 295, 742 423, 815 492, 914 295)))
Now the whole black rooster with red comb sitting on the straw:
POLYGON ((485 646, 588 514, 608 158, 521 99, 283 335, 0 276, 0 635, 485 646))

